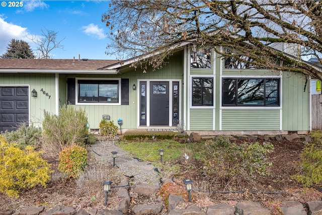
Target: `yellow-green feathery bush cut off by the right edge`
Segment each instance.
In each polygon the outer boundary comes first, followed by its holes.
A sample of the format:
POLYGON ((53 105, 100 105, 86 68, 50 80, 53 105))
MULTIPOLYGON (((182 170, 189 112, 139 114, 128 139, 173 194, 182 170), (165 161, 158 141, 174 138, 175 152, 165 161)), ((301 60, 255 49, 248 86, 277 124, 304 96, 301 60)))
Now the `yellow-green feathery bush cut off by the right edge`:
POLYGON ((307 144, 301 155, 299 166, 301 171, 293 176, 304 187, 311 187, 322 183, 322 143, 307 144))

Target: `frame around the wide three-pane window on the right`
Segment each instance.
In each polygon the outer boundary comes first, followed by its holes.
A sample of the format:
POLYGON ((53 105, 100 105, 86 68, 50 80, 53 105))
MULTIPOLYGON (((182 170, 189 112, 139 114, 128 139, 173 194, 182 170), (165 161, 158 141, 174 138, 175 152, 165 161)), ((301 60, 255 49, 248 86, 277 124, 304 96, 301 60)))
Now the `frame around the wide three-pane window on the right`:
POLYGON ((221 78, 221 107, 224 108, 281 108, 281 78, 280 77, 222 77, 221 78), (223 103, 223 97, 224 97, 224 91, 223 91, 223 83, 224 80, 235 80, 235 103, 234 104, 224 104, 223 103), (277 105, 267 105, 266 104, 266 98, 264 98, 264 104, 263 105, 259 105, 259 104, 238 104, 238 80, 264 80, 264 95, 266 95, 266 81, 269 80, 277 80, 277 105))

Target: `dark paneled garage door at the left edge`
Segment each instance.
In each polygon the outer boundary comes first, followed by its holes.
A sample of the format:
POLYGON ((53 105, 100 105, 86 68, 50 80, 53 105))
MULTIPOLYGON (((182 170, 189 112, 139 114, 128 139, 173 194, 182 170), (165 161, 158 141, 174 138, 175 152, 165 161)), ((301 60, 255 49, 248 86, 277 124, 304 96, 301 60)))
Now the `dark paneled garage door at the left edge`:
POLYGON ((0 131, 15 130, 29 120, 28 87, 0 87, 0 131))

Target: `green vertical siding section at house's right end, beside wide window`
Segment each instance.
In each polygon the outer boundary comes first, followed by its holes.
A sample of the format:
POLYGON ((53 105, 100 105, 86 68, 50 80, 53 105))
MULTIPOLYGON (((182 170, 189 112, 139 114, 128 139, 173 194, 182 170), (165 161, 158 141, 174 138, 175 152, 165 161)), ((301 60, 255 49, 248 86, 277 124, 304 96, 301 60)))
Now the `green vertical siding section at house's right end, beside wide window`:
POLYGON ((309 84, 299 73, 283 74, 283 130, 309 130, 309 84), (305 90, 305 91, 304 91, 305 90))

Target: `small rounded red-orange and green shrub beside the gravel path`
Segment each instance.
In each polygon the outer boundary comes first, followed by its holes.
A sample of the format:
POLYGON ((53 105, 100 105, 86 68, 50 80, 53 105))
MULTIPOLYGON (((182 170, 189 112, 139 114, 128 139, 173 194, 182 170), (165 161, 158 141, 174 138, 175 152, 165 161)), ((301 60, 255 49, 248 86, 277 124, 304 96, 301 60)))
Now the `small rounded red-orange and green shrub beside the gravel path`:
POLYGON ((58 170, 68 178, 77 178, 87 167, 88 155, 85 148, 75 144, 65 147, 59 153, 58 170))

